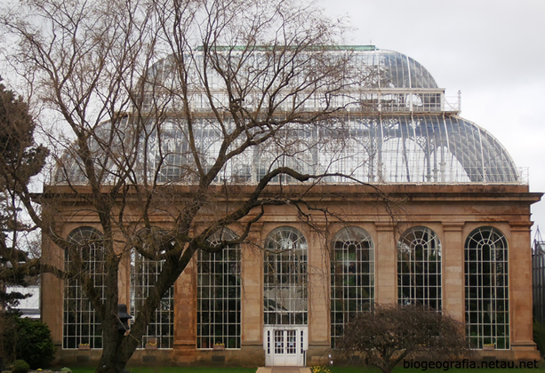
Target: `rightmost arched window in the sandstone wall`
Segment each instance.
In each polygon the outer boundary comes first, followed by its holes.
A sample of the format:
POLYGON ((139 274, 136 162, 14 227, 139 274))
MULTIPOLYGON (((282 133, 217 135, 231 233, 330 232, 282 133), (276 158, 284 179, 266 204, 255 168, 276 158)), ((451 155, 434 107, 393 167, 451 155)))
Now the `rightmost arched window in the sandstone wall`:
POLYGON ((465 244, 466 333, 473 348, 509 349, 509 262, 505 236, 482 226, 465 244))

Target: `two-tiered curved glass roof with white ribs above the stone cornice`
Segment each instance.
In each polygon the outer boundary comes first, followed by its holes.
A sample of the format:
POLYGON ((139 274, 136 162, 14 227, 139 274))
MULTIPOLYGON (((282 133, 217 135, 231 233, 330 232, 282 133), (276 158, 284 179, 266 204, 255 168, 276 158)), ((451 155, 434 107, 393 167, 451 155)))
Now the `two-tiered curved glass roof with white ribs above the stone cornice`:
MULTIPOLYGON (((455 110, 445 108, 444 91, 437 88, 434 78, 420 63, 404 54, 370 46, 346 47, 346 50, 354 53, 362 74, 369 75, 365 89, 360 88, 355 94, 359 94, 359 99, 346 105, 341 115, 333 119, 314 126, 294 123, 278 139, 236 155, 215 182, 255 184, 277 166, 290 166, 301 173, 327 174, 323 181, 334 184, 356 180, 438 184, 523 182, 497 139, 477 124, 462 119, 455 110), (365 106, 366 102, 372 105, 365 106)), ((165 75, 163 65, 156 71, 165 75)), ((195 101, 198 102, 198 97, 195 101)), ((232 123, 226 119, 220 125, 204 109, 196 106, 200 115, 193 123, 193 136, 199 162, 206 169, 212 166, 224 131, 232 123)), ((124 125, 131 125, 130 115, 124 125)), ((108 127, 108 123, 104 126, 108 127)), ((151 127, 154 125, 150 124, 151 127)), ((147 150, 138 155, 141 162, 146 161, 140 167, 140 177, 149 178, 158 170, 159 183, 197 181, 195 150, 190 151, 188 146, 187 127, 183 115, 171 115, 161 124, 160 135, 156 129, 147 132, 147 150)), ((144 141, 138 142, 139 147, 144 146, 144 141)), ((116 163, 104 167, 116 167, 116 163)), ((69 179, 71 183, 84 184, 83 170, 74 157, 74 164, 57 174, 57 182, 69 179)), ((107 174, 112 178, 116 171, 107 174)), ((273 181, 281 180, 291 182, 289 178, 278 177, 273 181)))

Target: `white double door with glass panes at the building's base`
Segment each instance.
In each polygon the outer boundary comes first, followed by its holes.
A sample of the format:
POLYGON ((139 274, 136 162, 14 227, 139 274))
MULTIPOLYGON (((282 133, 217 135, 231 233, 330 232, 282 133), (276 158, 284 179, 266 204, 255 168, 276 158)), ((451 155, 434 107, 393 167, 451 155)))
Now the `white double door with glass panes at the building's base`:
POLYGON ((307 326, 267 326, 263 348, 268 367, 304 367, 308 349, 307 326))

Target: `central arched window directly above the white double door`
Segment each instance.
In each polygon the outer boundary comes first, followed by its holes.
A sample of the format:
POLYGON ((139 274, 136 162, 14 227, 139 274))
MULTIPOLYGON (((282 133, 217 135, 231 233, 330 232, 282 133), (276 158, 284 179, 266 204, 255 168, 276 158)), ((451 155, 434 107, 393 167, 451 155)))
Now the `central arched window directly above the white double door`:
POLYGON ((268 234, 263 273, 265 325, 307 325, 307 240, 299 230, 280 226, 268 234))

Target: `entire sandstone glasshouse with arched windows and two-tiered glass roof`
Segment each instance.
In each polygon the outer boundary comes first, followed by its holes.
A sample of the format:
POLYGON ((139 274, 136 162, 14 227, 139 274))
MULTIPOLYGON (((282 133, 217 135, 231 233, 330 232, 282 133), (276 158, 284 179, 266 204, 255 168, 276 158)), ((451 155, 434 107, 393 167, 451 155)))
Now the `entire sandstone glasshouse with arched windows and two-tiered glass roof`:
MULTIPOLYGON (((225 53, 248 71, 269 59, 266 48, 245 55, 226 47, 225 53)), ((374 303, 449 313, 465 322, 468 341, 482 356, 539 359, 530 206, 541 194, 530 193, 525 171, 489 131, 459 116, 460 95, 446 97, 419 62, 370 45, 335 47, 324 55, 349 56, 361 80, 334 93, 328 82, 293 95, 283 93, 288 85, 272 93, 267 87, 264 94, 268 75, 259 75, 236 100, 224 76, 211 74, 206 89, 196 84, 179 94, 172 74, 179 62, 167 58, 154 65, 139 106, 120 114, 116 126, 102 124, 90 151, 102 152, 100 141, 114 141, 113 156, 101 164, 106 183, 115 184, 112 170, 129 162, 122 149, 132 148, 140 149, 132 159, 133 184, 164 187, 163 204, 146 218, 158 229, 175 224, 173 211, 193 198, 203 183, 199 175, 215 170, 222 152, 229 158, 211 181, 217 194, 191 232, 203 231, 229 206, 243 205, 269 179, 260 194, 268 203, 246 217, 251 225, 233 221, 207 238, 212 246, 244 240, 217 252, 196 251, 164 293, 130 363, 325 364, 345 324, 374 303), (285 123, 274 136, 247 124, 268 115, 263 106, 274 107, 272 122, 285 123), (135 118, 153 112, 156 121, 157 107, 163 108, 161 125, 140 122, 145 124, 132 136, 135 118), (247 127, 225 115, 228 109, 245 113, 247 127), (239 128, 252 137, 234 137, 226 147, 226 136, 239 128), (251 147, 238 152, 248 139, 251 147), (285 168, 295 172, 271 173, 285 168), (279 195, 284 202, 275 202, 279 195)), ((202 56, 196 51, 191 63, 203 66, 202 56)), ((187 71, 198 81, 196 70, 187 71)), ((309 76, 293 84, 304 86, 309 76)), ((73 194, 87 190, 88 166, 76 152, 66 152, 47 193, 63 196, 55 200, 57 226, 68 240, 89 246, 85 261, 104 296, 100 216, 84 196, 73 194)), ((124 211, 132 220, 120 230, 145 229, 137 211, 124 211)), ((119 303, 136 318, 164 262, 125 246, 119 303)), ((44 256, 66 267, 72 260, 52 242, 44 245, 44 256)), ((82 284, 44 274, 42 291, 43 319, 58 359, 98 361, 100 320, 82 284)))

